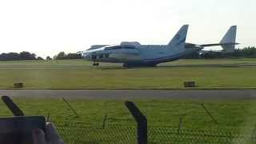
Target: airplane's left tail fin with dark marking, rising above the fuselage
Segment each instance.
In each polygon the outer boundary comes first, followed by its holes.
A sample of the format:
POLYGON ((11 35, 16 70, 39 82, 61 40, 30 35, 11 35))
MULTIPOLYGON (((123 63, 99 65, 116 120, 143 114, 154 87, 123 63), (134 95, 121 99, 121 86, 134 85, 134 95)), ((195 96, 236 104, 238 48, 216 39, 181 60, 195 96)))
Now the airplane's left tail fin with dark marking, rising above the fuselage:
POLYGON ((178 49, 178 51, 185 50, 185 42, 186 42, 186 34, 187 30, 189 28, 189 25, 184 25, 180 30, 178 30, 178 33, 175 34, 174 38, 169 42, 169 46, 174 46, 175 49, 178 49))

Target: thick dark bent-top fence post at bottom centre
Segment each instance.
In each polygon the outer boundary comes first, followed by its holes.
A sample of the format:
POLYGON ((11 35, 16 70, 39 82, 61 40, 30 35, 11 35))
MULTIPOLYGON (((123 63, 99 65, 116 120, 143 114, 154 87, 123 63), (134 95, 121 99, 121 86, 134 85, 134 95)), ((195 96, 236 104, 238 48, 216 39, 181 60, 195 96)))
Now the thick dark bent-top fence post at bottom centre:
POLYGON ((147 119, 134 104, 134 102, 126 102, 126 107, 133 115, 135 121, 137 122, 137 138, 138 144, 147 144, 147 119))

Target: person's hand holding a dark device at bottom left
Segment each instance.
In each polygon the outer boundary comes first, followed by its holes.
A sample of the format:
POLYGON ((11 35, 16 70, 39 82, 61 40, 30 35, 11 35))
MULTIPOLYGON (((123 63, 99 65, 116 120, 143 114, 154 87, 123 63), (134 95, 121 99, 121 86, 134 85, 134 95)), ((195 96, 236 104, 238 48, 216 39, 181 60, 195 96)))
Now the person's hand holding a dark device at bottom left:
POLYGON ((64 144, 54 125, 50 122, 46 123, 46 134, 41 129, 35 129, 32 131, 32 137, 34 144, 64 144))

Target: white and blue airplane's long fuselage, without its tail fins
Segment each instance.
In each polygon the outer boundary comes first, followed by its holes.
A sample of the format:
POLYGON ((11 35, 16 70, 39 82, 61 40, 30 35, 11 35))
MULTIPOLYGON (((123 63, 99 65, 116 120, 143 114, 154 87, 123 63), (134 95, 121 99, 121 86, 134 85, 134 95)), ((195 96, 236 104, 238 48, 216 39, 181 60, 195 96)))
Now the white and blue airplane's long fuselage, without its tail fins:
POLYGON ((186 48, 178 51, 169 45, 117 45, 84 51, 82 57, 90 61, 124 63, 124 66, 155 66, 199 50, 202 49, 186 48))

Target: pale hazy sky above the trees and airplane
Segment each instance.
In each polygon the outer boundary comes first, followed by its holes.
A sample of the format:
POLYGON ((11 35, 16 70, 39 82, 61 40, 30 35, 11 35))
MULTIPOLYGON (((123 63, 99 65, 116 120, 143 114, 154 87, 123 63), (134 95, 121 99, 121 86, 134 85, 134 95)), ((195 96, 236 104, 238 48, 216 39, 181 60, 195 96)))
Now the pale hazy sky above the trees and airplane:
POLYGON ((94 44, 167 44, 183 24, 186 42, 219 42, 238 26, 237 42, 256 46, 254 0, 8 0, 0 1, 0 53, 46 57, 94 44))

